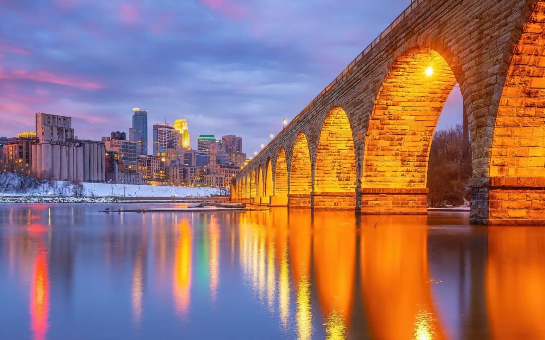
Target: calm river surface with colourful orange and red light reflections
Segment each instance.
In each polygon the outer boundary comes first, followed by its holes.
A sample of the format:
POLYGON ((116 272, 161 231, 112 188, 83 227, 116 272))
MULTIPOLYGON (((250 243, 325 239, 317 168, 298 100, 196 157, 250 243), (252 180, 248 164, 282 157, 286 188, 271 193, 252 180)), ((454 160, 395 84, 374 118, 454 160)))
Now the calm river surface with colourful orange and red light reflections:
POLYGON ((545 338, 545 227, 105 207, 0 205, 0 338, 545 338))

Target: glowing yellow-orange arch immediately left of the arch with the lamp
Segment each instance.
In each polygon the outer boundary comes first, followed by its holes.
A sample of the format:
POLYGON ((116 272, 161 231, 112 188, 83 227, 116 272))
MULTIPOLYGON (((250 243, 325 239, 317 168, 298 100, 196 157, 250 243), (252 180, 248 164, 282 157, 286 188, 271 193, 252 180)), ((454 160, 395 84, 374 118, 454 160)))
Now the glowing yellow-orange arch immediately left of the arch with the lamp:
POLYGON ((335 106, 325 117, 316 148, 314 208, 354 209, 357 178, 350 121, 346 112, 335 106))

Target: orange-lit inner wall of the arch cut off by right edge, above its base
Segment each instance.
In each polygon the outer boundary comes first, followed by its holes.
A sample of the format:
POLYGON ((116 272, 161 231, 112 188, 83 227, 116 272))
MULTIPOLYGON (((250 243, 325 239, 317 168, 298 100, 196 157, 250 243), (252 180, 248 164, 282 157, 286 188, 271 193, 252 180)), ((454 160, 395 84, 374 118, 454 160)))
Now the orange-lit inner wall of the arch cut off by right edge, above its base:
POLYGON ((545 22, 537 18, 543 14, 540 2, 511 57, 496 112, 490 177, 545 177, 545 22))

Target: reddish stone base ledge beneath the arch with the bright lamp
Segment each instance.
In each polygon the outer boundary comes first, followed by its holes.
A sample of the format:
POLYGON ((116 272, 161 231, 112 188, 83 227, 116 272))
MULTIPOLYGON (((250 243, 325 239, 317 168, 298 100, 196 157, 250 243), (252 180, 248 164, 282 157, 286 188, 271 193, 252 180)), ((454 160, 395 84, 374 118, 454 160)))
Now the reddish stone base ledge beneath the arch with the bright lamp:
POLYGON ((362 188, 362 214, 427 214, 428 189, 362 188))

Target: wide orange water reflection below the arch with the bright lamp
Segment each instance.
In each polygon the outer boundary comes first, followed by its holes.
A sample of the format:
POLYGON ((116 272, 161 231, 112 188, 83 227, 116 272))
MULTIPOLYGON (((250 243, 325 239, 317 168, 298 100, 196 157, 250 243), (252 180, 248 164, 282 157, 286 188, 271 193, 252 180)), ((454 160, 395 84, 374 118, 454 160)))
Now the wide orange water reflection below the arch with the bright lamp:
POLYGON ((373 337, 444 338, 431 292, 426 218, 362 219, 361 287, 373 337))

